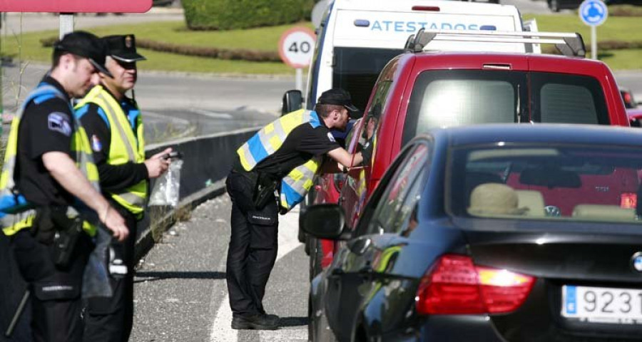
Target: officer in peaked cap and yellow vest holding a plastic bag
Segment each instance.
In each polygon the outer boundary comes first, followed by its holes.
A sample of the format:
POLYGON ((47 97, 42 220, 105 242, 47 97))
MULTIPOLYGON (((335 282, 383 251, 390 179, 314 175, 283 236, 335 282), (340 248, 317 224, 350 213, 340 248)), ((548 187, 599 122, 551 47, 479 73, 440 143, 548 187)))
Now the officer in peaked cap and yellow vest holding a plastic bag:
POLYGON ((110 281, 113 296, 92 297, 84 311, 85 341, 128 341, 133 324, 133 266, 136 222, 143 217, 148 180, 163 175, 170 165, 163 158, 171 148, 145 160, 141 111, 126 93, 138 76, 133 34, 101 38, 108 48, 101 82, 76 105, 78 118, 91 141, 101 190, 125 218, 129 237, 110 246, 110 281))

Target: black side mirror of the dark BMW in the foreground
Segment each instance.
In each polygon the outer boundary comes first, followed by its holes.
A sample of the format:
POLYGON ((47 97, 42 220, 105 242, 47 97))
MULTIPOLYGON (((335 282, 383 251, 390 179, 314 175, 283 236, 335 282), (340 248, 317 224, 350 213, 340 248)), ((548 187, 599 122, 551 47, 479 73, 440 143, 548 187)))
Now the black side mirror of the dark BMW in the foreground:
POLYGON ((301 214, 299 224, 304 232, 319 239, 342 239, 345 213, 337 204, 315 204, 301 214))

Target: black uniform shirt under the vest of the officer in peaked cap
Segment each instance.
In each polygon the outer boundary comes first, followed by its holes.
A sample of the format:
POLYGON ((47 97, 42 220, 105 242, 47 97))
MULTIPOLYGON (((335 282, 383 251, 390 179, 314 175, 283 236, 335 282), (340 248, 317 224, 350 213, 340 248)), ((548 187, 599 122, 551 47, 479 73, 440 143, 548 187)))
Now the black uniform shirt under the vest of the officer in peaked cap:
MULTIPOLYGON (((105 89, 107 90, 107 89, 105 89)), ((107 90, 108 91, 108 90, 107 90)), ((136 121, 133 115, 138 114, 138 108, 129 98, 117 101, 128 117, 134 136, 136 136, 136 121)), ((139 115, 139 114, 138 114, 139 115)), ((126 162, 123 165, 109 165, 107 159, 111 146, 111 128, 108 126, 107 116, 95 103, 88 103, 76 110, 76 117, 80 119, 93 150, 93 161, 98 167, 101 178, 101 189, 106 192, 116 192, 138 184, 141 180, 148 179, 147 167, 144 163, 126 162)))

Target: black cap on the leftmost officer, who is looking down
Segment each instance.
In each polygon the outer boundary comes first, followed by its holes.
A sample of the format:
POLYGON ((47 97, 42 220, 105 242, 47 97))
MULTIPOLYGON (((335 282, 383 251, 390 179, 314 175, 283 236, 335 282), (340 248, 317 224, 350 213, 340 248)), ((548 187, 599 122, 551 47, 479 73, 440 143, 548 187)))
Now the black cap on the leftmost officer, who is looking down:
POLYGON ((111 76, 105 66, 107 46, 100 38, 85 31, 67 33, 54 44, 54 49, 87 58, 89 63, 101 73, 111 76))

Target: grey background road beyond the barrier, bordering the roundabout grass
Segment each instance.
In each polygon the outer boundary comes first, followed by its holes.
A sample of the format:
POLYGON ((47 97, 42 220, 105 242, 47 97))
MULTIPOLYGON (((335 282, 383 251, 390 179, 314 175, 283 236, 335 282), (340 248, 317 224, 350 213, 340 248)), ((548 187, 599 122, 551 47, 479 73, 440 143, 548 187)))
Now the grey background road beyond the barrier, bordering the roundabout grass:
MULTIPOLYGON (((15 113, 29 90, 48 70, 42 64, 4 66, 4 109, 15 113)), ((290 77, 203 76, 188 73, 141 72, 136 100, 146 123, 150 143, 228 132, 264 125, 280 113, 285 90, 294 88, 290 77)))

